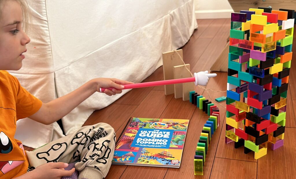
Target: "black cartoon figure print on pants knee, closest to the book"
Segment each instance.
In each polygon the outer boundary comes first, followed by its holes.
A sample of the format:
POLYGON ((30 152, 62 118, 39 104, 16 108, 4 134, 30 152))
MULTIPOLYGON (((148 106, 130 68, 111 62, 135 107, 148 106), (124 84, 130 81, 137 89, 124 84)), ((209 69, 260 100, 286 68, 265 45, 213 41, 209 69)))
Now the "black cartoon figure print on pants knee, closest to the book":
POLYGON ((100 144, 96 144, 95 142, 89 144, 87 146, 88 152, 84 155, 82 162, 86 162, 88 160, 95 160, 98 163, 106 164, 109 158, 111 149, 109 148, 110 140, 105 140, 100 147, 100 144), (99 148, 100 147, 100 148, 99 148))

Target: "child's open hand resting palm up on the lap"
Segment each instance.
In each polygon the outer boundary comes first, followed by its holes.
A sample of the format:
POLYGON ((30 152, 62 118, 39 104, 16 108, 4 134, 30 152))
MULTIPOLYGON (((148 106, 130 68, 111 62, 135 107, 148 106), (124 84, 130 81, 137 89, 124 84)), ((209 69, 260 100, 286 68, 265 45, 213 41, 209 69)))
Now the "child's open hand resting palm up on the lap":
POLYGON ((65 170, 68 164, 64 162, 50 162, 43 165, 38 166, 35 170, 30 171, 29 173, 33 174, 33 178, 52 178, 52 179, 60 179, 63 176, 71 176, 75 172, 75 168, 71 170, 65 170))

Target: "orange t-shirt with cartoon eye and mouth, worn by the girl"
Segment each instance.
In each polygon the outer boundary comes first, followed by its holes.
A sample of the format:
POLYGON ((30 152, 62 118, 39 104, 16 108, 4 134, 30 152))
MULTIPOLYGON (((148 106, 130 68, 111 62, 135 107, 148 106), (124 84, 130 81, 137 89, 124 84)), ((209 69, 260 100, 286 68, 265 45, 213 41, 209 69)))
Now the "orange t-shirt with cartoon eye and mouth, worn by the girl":
POLYGON ((36 113, 42 102, 25 90, 7 71, 0 70, 0 178, 27 172, 29 162, 22 143, 16 139, 16 121, 36 113))

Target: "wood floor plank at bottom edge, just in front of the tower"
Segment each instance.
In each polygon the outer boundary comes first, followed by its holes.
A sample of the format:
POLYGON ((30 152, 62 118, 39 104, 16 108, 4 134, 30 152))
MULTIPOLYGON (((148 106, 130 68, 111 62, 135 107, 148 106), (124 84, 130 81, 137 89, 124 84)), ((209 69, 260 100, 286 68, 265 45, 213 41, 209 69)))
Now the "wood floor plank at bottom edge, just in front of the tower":
MULTIPOLYGON (((215 157, 215 162, 210 178, 256 179, 256 170, 256 162, 247 162, 215 157)), ((268 177, 262 176, 262 178, 268 177)))

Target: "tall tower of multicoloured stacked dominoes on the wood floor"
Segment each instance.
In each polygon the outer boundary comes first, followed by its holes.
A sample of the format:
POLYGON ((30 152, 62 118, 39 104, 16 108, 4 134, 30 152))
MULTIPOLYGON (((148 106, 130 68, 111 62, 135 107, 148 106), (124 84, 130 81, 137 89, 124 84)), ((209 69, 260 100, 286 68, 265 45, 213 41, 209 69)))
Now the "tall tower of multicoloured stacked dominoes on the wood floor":
POLYGON ((225 142, 255 159, 268 143, 284 145, 294 16, 271 8, 231 14, 225 142))

